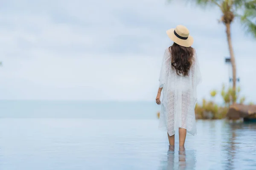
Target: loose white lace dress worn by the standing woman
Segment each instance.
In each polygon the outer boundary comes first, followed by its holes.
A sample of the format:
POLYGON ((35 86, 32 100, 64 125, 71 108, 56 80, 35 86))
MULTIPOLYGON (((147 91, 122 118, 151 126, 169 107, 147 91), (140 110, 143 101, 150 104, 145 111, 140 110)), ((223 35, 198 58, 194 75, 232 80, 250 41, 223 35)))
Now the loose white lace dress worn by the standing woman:
POLYGON ((178 128, 185 128, 188 133, 196 134, 195 104, 196 88, 201 82, 198 59, 194 55, 188 76, 178 76, 172 69, 171 52, 166 49, 160 71, 159 87, 162 88, 159 128, 166 130, 170 136, 178 128))

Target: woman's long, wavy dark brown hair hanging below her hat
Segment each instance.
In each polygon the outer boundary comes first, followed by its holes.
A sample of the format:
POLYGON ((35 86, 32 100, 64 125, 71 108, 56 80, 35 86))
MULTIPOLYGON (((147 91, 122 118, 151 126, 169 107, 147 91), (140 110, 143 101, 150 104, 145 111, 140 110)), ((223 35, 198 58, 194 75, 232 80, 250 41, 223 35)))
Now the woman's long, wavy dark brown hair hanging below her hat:
POLYGON ((172 54, 172 69, 176 70, 179 76, 188 76, 188 71, 194 60, 195 49, 183 47, 174 42, 169 50, 172 54))

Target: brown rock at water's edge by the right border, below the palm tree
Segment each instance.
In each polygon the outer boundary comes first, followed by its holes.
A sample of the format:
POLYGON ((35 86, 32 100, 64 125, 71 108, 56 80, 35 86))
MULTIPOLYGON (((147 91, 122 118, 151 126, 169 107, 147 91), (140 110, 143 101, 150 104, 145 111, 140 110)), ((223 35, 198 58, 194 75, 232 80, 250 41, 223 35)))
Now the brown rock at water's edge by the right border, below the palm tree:
POLYGON ((231 105, 227 112, 227 118, 233 120, 240 118, 256 118, 256 105, 231 105))

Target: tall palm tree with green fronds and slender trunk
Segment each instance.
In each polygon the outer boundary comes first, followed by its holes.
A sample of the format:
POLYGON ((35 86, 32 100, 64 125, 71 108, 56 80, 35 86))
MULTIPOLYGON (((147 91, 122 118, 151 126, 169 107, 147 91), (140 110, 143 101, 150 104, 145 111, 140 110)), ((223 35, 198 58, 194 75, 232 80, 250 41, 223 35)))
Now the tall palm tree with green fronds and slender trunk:
MULTIPOLYGON (((171 0, 170 0, 171 1, 171 0)), ((221 12, 221 20, 226 26, 227 42, 233 73, 233 90, 236 91, 236 60, 231 42, 230 26, 235 18, 241 21, 247 33, 256 37, 256 0, 188 0, 198 5, 217 6, 221 12)))

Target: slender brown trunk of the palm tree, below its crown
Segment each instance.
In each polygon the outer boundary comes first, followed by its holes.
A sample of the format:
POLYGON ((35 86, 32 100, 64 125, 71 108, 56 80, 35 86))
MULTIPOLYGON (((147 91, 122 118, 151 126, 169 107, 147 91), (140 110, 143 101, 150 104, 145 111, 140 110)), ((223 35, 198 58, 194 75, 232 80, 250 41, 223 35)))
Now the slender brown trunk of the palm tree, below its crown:
MULTIPOLYGON (((230 60, 231 60, 231 65, 232 65, 232 73, 233 73, 233 90, 236 91, 236 62, 235 62, 235 56, 234 56, 234 51, 232 47, 232 42, 231 42, 231 36, 230 36, 230 24, 231 23, 226 23, 226 28, 227 28, 227 42, 228 42, 228 48, 230 51, 230 60)), ((234 103, 235 101, 233 101, 234 103)))

